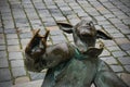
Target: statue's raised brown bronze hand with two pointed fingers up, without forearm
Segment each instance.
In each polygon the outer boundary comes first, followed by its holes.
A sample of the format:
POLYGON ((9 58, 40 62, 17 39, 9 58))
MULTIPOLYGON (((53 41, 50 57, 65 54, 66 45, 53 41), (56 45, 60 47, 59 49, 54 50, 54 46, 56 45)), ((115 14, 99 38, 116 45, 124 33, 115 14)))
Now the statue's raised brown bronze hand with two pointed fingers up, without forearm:
POLYGON ((27 45, 25 52, 31 55, 32 58, 37 58, 46 52, 49 30, 43 36, 38 34, 40 29, 32 32, 34 32, 34 36, 30 39, 29 44, 27 45))

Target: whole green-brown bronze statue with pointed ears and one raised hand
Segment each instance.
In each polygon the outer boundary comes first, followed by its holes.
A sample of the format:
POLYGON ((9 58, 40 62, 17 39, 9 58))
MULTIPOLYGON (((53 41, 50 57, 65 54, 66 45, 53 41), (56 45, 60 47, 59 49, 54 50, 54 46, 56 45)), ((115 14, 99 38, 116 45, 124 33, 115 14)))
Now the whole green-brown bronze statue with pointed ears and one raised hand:
POLYGON ((87 21, 76 26, 65 23, 57 25, 62 30, 73 34, 75 46, 64 42, 47 47, 49 32, 41 36, 38 30, 25 50, 25 65, 29 71, 49 69, 41 87, 90 87, 92 83, 96 87, 128 87, 98 58, 103 45, 95 48, 96 38, 112 39, 108 35, 96 30, 93 23, 87 21), (36 47, 37 50, 32 51, 36 47), (35 57, 35 53, 38 55, 35 57))

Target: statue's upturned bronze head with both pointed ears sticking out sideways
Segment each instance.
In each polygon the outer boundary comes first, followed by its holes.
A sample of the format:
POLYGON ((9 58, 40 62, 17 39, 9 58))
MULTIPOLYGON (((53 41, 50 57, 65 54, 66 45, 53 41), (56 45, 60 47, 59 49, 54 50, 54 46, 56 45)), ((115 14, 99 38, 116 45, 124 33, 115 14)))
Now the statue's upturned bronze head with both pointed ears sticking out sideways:
POLYGON ((92 22, 82 20, 73 26, 66 23, 57 23, 60 29, 67 34, 73 34, 74 41, 81 52, 86 52, 89 47, 94 47, 96 38, 112 39, 106 33, 96 30, 92 22))

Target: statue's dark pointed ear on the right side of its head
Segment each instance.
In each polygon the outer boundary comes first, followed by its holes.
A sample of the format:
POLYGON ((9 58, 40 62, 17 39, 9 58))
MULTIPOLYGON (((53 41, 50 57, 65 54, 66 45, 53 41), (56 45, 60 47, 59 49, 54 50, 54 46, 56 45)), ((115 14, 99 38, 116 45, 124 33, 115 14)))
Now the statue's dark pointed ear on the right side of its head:
POLYGON ((106 34, 105 32, 102 32, 102 30, 96 30, 96 38, 102 38, 105 40, 113 39, 108 34, 106 34))

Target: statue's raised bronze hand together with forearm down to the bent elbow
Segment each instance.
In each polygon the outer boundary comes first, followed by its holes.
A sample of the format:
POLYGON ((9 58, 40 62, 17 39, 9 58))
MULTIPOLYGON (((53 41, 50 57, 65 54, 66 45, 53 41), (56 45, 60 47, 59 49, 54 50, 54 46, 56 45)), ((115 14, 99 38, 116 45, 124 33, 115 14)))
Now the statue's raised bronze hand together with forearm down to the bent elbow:
POLYGON ((49 35, 49 30, 43 36, 39 34, 39 30, 34 30, 34 36, 25 49, 25 65, 29 71, 34 72, 40 72, 42 70, 39 61, 41 61, 41 57, 46 52, 49 35))

